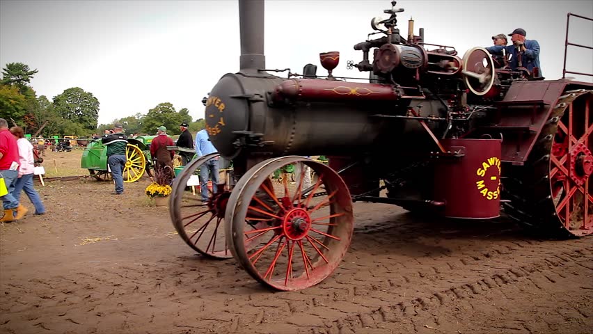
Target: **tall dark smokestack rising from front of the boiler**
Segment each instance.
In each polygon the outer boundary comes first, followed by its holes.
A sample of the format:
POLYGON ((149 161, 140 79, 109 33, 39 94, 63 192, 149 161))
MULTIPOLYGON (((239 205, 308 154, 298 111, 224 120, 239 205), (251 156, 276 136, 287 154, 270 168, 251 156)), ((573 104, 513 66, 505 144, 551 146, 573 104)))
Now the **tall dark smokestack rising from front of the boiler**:
POLYGON ((264 69, 264 0, 239 0, 239 29, 241 72, 264 69))

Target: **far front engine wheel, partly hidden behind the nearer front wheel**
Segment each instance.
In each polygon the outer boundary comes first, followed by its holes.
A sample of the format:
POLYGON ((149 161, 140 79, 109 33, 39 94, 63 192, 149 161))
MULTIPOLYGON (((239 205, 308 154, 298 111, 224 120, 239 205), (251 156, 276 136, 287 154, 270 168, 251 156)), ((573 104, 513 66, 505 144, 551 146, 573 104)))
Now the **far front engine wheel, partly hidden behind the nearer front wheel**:
MULTIPOLYGON (((208 257, 228 259, 232 257, 226 243, 224 214, 231 189, 225 180, 207 186, 208 199, 203 202, 197 184, 198 170, 207 161, 220 157, 218 153, 207 154, 191 161, 173 182, 173 194, 169 203, 171 221, 186 244, 208 257)), ((225 177, 228 179, 228 177, 225 177)))

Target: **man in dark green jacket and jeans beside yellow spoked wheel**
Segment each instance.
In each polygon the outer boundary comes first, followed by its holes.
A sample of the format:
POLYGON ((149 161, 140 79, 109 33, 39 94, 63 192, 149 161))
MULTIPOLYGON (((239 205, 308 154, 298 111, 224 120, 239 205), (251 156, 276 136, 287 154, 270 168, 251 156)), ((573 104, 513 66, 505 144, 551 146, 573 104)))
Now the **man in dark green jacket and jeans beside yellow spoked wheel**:
POLYGON ((112 194, 120 195, 123 193, 122 172, 127 160, 125 155, 127 136, 123 133, 123 126, 119 123, 114 124, 113 133, 105 134, 101 138, 101 143, 107 146, 107 163, 111 169, 113 181, 116 182, 116 191, 113 191, 112 194))

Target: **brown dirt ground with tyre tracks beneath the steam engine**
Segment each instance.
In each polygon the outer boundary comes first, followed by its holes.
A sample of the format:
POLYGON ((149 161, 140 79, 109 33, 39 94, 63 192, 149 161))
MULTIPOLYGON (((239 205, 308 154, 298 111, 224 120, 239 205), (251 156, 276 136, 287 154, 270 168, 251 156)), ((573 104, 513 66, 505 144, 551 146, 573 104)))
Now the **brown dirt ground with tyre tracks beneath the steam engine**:
MULTIPOLYGON (((57 154, 46 161, 84 173, 80 151, 57 154)), ((0 228, 0 333, 593 333, 593 238, 355 203, 338 270, 270 292, 235 260, 196 255, 146 185, 38 187, 48 213, 0 228)))

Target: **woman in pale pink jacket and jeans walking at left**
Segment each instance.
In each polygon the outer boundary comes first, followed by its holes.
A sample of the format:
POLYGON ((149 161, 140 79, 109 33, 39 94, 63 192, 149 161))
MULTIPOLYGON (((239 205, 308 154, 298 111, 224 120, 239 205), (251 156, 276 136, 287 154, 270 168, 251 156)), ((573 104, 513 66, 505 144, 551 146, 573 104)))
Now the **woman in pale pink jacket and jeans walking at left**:
POLYGON ((41 198, 35 188, 33 188, 33 171, 35 170, 35 163, 33 160, 33 145, 24 138, 22 127, 11 127, 10 132, 17 138, 17 146, 19 147, 19 178, 13 191, 13 196, 20 200, 21 191, 24 190, 26 196, 35 207, 35 214, 45 214, 45 207, 41 202, 41 198))

